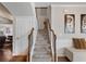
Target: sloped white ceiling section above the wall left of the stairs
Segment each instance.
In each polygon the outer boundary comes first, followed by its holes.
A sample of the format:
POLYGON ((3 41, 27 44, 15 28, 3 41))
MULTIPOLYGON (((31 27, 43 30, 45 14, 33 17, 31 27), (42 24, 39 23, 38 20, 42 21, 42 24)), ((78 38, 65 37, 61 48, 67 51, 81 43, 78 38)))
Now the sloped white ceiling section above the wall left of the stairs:
POLYGON ((16 16, 34 15, 33 8, 29 2, 3 2, 3 4, 16 16))

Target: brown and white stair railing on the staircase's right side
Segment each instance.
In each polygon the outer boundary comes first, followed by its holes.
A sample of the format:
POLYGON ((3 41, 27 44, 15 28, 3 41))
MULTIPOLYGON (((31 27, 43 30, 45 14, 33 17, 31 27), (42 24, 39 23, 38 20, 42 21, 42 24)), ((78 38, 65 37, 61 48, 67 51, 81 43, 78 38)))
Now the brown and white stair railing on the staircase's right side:
POLYGON ((51 29, 51 25, 49 23, 49 20, 46 21, 47 22, 47 29, 48 29, 48 40, 51 44, 51 56, 52 56, 52 61, 57 62, 57 49, 56 49, 56 40, 57 40, 57 36, 54 34, 54 30, 51 29))

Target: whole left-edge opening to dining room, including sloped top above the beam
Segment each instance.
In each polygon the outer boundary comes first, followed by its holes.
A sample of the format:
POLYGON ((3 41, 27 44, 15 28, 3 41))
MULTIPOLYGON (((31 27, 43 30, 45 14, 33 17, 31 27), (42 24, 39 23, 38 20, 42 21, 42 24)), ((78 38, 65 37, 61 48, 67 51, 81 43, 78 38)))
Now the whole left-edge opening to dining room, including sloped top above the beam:
POLYGON ((0 11, 0 62, 9 62, 13 52, 13 17, 2 3, 0 11))

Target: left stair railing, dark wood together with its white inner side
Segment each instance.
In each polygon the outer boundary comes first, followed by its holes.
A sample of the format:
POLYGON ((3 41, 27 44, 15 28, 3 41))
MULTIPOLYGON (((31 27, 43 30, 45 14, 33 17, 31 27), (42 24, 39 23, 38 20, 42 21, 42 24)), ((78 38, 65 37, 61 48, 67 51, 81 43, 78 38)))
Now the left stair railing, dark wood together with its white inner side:
POLYGON ((34 43, 34 41, 33 41, 33 39, 34 39, 34 28, 32 28, 32 30, 30 30, 30 34, 28 35, 28 62, 30 62, 32 61, 32 50, 33 50, 33 43, 34 43))

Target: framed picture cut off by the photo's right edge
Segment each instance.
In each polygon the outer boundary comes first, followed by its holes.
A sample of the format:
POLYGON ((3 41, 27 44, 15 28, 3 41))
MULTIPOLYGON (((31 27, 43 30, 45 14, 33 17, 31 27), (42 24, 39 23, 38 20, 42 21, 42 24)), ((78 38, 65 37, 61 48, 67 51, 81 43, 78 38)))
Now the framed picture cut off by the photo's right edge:
POLYGON ((81 14, 81 33, 86 34, 86 14, 81 14))

